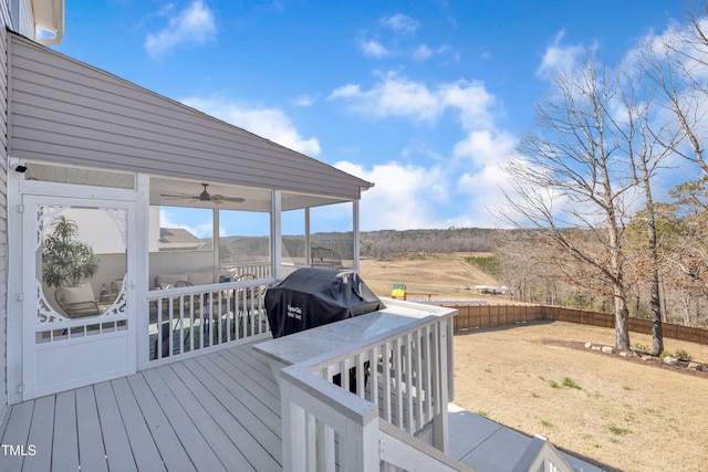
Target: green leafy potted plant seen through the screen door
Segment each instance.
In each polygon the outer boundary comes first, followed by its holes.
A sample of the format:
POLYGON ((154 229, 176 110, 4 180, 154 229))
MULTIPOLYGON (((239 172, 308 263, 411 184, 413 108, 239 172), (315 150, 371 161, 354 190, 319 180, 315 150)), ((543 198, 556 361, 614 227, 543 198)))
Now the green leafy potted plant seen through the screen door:
POLYGON ((42 280, 50 287, 76 286, 91 279, 101 260, 93 247, 79 239, 79 225, 60 216, 54 219, 52 232, 42 242, 42 280))

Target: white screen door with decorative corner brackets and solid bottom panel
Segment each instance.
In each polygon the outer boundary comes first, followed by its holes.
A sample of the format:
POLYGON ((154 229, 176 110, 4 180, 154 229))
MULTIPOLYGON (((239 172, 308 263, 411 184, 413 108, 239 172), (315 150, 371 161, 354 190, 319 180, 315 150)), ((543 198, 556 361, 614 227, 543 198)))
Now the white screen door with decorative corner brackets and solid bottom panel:
POLYGON ((135 203, 22 203, 22 398, 133 374, 135 203))

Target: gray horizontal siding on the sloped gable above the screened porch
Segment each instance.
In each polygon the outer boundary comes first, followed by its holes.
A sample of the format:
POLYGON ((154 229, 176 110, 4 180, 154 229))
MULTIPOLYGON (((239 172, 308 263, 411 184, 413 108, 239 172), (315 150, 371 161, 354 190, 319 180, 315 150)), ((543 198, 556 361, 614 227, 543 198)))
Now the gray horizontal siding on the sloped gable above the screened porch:
POLYGON ((10 35, 10 155, 358 199, 368 183, 10 35))

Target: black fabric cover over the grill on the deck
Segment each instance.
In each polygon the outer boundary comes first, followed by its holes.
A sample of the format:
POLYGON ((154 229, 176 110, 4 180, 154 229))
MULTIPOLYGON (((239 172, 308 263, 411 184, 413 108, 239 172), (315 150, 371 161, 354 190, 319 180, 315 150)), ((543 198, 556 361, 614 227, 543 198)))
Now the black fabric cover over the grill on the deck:
POLYGON ((356 272, 312 268, 268 289, 264 303, 274 338, 384 308, 356 272))

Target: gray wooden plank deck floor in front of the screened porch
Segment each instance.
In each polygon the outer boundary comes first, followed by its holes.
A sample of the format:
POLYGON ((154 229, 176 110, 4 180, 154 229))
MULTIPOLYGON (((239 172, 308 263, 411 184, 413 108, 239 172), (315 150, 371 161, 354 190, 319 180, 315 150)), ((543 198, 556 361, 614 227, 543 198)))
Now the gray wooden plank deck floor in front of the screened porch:
POLYGON ((15 405, 3 427, 22 450, 0 471, 282 470, 280 394, 250 344, 15 405))

